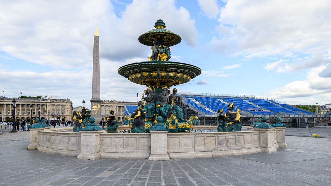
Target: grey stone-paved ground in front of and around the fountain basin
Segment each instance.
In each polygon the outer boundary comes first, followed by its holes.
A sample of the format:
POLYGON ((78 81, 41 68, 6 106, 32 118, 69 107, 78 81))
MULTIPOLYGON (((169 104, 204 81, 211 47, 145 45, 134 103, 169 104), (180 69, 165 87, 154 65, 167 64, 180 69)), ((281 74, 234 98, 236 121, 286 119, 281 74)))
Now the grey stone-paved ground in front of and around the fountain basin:
POLYGON ((270 154, 92 161, 26 150, 28 137, 0 135, 0 185, 331 185, 328 138, 286 136, 270 154))

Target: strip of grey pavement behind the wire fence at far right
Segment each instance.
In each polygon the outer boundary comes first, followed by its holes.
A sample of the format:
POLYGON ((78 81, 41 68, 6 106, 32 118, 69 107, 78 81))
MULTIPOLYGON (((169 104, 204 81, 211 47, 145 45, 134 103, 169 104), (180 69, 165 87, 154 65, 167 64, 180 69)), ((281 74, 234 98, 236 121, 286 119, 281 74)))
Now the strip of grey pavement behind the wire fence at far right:
POLYGON ((307 130, 307 128, 286 128, 285 135, 307 136, 308 134, 308 136, 311 136, 318 134, 321 137, 331 138, 331 127, 314 127, 309 128, 309 130, 307 130))

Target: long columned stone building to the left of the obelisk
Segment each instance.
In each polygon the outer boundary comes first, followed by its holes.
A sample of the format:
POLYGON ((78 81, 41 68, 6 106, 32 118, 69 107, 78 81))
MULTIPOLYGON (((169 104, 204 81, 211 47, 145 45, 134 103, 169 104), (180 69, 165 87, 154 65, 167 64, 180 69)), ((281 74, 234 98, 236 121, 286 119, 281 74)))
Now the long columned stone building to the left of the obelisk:
MULTIPOLYGON (((25 119, 27 122, 32 118, 38 118, 38 108, 40 107, 40 118, 48 119, 55 118, 58 120, 71 120, 72 118, 72 102, 69 98, 67 99, 40 99, 40 98, 15 98, 16 120, 22 121, 25 119), (30 109, 32 105, 32 110, 30 109), (30 112, 31 111, 31 112, 30 112), (52 117, 53 116, 53 117, 52 117)), ((13 110, 13 98, 0 97, 0 121, 8 122, 11 121, 11 110, 13 110)))

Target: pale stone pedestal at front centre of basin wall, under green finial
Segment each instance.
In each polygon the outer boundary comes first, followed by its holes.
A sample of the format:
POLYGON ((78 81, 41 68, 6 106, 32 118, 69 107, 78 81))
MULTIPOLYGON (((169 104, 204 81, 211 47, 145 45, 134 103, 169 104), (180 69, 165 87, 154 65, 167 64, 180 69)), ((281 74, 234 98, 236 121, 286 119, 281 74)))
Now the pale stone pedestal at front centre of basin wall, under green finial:
POLYGON ((167 130, 150 130, 151 133, 151 155, 148 160, 170 160, 168 155, 167 130))

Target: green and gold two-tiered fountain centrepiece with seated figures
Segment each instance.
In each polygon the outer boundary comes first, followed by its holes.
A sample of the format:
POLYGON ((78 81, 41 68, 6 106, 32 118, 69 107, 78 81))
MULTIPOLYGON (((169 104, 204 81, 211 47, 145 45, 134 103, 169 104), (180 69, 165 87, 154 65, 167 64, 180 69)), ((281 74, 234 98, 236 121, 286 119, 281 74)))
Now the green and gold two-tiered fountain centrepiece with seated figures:
POLYGON ((169 61, 170 47, 180 43, 181 38, 165 29, 166 24, 161 19, 154 27, 155 29, 145 32, 138 38, 140 43, 151 47, 152 55, 149 60, 127 64, 118 69, 118 74, 129 81, 148 87, 146 97, 143 96, 142 99, 145 102, 144 107, 140 108, 146 112, 144 125, 140 122, 141 116, 135 120, 131 119, 136 117, 136 112, 131 118, 125 117, 123 123, 134 130, 137 130, 135 124, 139 124, 141 127, 145 126, 146 131, 187 131, 198 122, 198 117, 191 116, 187 121, 184 120, 182 109, 176 104, 177 89, 173 89, 171 95, 168 89, 189 82, 201 74, 201 69, 191 64, 169 61))

